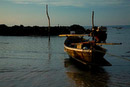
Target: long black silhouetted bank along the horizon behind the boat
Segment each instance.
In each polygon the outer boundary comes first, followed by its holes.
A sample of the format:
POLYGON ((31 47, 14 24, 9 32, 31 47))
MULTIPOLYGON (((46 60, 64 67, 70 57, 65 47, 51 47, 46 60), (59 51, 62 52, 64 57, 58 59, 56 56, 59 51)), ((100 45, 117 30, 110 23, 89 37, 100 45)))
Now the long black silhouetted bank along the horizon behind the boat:
MULTIPOLYGON (((70 31, 83 34, 86 33, 84 27, 80 25, 72 26, 54 26, 50 28, 50 35, 57 36, 59 34, 69 34, 70 31)), ((0 35, 1 36, 48 36, 48 27, 39 26, 23 26, 14 25, 7 26, 0 24, 0 35)))

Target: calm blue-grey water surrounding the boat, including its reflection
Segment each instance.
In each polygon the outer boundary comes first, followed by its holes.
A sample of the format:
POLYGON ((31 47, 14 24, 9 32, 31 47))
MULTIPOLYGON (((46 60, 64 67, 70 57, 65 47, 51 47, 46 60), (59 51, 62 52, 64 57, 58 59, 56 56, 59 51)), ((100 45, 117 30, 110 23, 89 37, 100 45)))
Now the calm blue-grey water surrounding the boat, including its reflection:
POLYGON ((84 69, 73 64, 63 43, 65 37, 0 36, 0 87, 130 87, 130 26, 108 27, 112 66, 84 69))

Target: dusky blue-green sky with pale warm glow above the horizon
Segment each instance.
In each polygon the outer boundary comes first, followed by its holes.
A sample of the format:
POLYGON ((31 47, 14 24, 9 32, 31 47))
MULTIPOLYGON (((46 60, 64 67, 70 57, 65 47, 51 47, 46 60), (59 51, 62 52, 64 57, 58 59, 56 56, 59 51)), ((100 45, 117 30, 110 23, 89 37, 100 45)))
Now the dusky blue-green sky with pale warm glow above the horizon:
POLYGON ((130 0, 0 0, 0 24, 48 26, 46 4, 51 26, 130 25, 130 0))

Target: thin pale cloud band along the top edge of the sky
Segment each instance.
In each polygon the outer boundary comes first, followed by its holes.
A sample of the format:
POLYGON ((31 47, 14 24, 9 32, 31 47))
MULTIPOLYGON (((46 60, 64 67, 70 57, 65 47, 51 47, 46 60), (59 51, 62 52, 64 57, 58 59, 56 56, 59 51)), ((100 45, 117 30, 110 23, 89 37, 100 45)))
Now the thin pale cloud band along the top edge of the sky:
POLYGON ((55 6, 130 6, 130 0, 10 0, 17 4, 51 4, 55 6))

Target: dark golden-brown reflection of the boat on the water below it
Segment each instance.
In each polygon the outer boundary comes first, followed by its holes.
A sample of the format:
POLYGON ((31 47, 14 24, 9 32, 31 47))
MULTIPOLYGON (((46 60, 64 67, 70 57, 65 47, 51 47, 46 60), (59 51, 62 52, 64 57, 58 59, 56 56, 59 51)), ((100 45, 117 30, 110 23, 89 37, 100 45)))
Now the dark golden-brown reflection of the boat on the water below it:
POLYGON ((109 74, 101 67, 87 69, 85 66, 74 64, 70 59, 65 59, 67 76, 74 81, 76 87, 107 87, 109 74))

